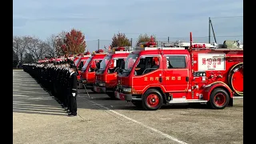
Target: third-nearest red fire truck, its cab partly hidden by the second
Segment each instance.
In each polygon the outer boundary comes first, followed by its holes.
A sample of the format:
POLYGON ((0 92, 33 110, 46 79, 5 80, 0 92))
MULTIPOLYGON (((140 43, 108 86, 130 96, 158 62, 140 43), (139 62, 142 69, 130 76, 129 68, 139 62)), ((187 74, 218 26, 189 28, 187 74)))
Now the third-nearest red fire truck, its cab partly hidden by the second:
POLYGON ((81 81, 86 88, 94 90, 95 71, 99 69, 99 63, 106 56, 104 50, 97 50, 95 54, 91 54, 84 66, 82 66, 81 81))

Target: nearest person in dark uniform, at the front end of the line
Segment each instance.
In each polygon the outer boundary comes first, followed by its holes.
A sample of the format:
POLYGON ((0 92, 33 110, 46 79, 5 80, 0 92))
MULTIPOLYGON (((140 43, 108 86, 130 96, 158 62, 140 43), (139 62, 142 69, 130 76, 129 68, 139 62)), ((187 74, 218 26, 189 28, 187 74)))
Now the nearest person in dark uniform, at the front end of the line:
POLYGON ((77 67, 74 66, 74 63, 70 64, 70 87, 68 90, 69 100, 70 100, 70 113, 69 116, 77 115, 77 95, 78 95, 78 79, 76 70, 77 67))

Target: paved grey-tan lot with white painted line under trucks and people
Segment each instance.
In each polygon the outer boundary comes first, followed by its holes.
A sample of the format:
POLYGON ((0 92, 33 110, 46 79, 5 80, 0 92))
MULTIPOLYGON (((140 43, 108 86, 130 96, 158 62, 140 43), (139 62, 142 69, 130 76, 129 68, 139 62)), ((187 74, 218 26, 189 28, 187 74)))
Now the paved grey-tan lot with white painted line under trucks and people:
POLYGON ((163 106, 137 110, 130 102, 79 90, 78 116, 22 70, 13 70, 14 143, 243 143, 243 99, 233 107, 163 106))

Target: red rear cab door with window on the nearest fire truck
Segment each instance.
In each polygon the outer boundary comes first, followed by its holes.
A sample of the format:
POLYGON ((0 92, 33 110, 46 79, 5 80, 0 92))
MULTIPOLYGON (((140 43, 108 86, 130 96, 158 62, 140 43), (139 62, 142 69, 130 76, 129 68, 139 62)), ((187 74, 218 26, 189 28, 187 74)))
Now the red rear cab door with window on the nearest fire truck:
POLYGON ((189 69, 187 55, 170 54, 165 56, 164 85, 174 98, 184 98, 189 89, 189 69))

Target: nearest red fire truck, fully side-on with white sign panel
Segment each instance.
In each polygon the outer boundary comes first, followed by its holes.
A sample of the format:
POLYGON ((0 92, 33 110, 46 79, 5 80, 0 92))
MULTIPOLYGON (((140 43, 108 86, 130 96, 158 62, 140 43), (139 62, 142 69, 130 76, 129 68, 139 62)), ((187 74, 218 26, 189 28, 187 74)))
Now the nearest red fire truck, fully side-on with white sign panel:
POLYGON ((233 106, 234 95, 243 95, 243 46, 238 45, 225 41, 209 48, 193 43, 190 34, 187 50, 163 45, 140 48, 126 58, 115 97, 144 110, 187 102, 206 103, 213 109, 233 106))

